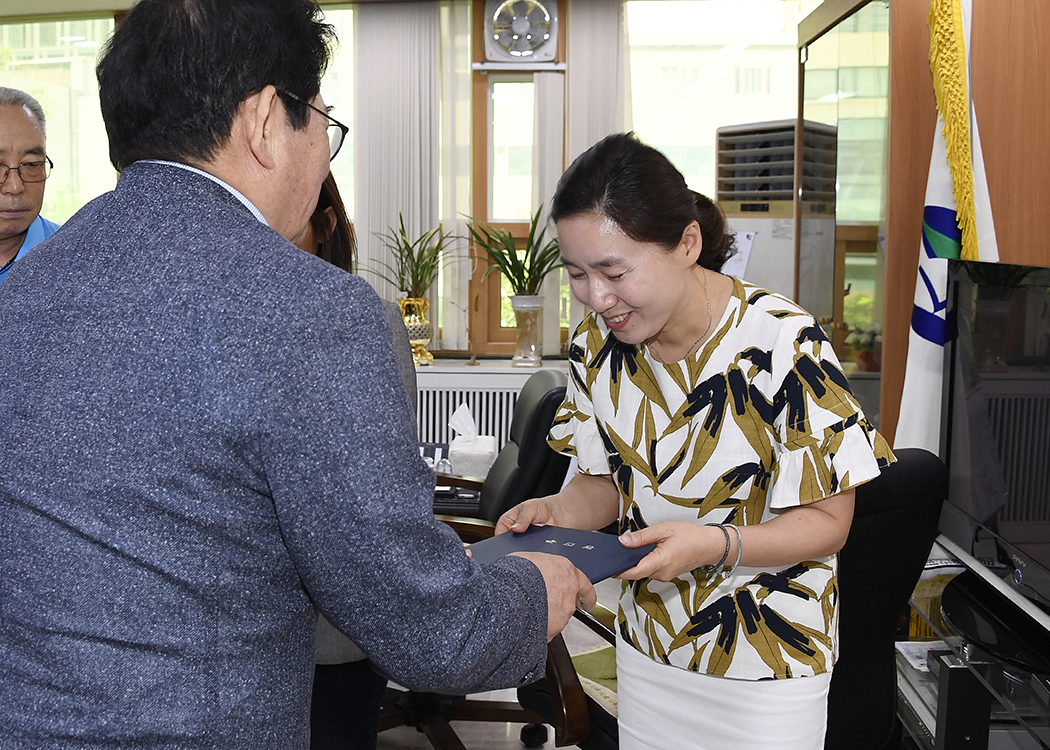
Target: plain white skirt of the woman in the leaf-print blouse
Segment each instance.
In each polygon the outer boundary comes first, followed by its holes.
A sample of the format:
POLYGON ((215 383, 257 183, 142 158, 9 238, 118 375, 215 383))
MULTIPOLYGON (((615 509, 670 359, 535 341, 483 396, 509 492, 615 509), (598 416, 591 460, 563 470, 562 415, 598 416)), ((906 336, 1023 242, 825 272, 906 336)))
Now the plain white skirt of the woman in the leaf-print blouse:
POLYGON ((622 750, 823 750, 831 672, 731 680, 657 664, 616 638, 622 750))

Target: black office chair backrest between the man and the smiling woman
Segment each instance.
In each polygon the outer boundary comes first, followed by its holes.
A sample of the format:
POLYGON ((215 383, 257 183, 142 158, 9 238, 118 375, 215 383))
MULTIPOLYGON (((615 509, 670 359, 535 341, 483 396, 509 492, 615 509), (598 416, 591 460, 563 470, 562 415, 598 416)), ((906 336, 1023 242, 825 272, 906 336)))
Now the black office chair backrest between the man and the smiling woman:
POLYGON ((569 458, 547 444, 554 414, 565 399, 568 376, 542 369, 525 382, 514 402, 510 439, 485 475, 479 500, 481 518, 495 521, 529 498, 556 493, 569 467, 569 458))

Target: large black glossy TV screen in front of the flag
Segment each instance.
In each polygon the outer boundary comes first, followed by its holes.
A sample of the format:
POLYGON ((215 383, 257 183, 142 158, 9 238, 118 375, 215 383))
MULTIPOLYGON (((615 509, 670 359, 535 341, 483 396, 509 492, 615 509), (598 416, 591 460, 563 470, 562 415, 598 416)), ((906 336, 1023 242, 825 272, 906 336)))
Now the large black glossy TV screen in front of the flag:
POLYGON ((1050 269, 949 262, 941 533, 1050 605, 1050 269))

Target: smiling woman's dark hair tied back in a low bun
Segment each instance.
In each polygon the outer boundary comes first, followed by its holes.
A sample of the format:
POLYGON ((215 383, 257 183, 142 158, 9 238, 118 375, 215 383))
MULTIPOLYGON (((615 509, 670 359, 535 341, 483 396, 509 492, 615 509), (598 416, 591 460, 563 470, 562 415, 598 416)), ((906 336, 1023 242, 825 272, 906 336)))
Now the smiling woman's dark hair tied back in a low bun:
POLYGON ((681 172, 633 132, 607 136, 580 154, 558 181, 550 217, 608 216, 639 243, 671 249, 690 222, 700 225, 697 264, 719 270, 734 252, 735 233, 707 195, 690 190, 681 172))

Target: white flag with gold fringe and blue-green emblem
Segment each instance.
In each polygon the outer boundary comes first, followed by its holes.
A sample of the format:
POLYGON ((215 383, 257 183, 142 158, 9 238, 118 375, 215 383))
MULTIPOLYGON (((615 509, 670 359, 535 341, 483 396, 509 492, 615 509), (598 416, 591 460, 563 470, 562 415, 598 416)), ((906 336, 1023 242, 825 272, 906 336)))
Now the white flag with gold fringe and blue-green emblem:
POLYGON ((933 134, 908 358, 895 447, 938 453, 946 340, 948 258, 998 261, 981 137, 969 86, 972 0, 931 0, 929 60, 939 127, 933 134))

